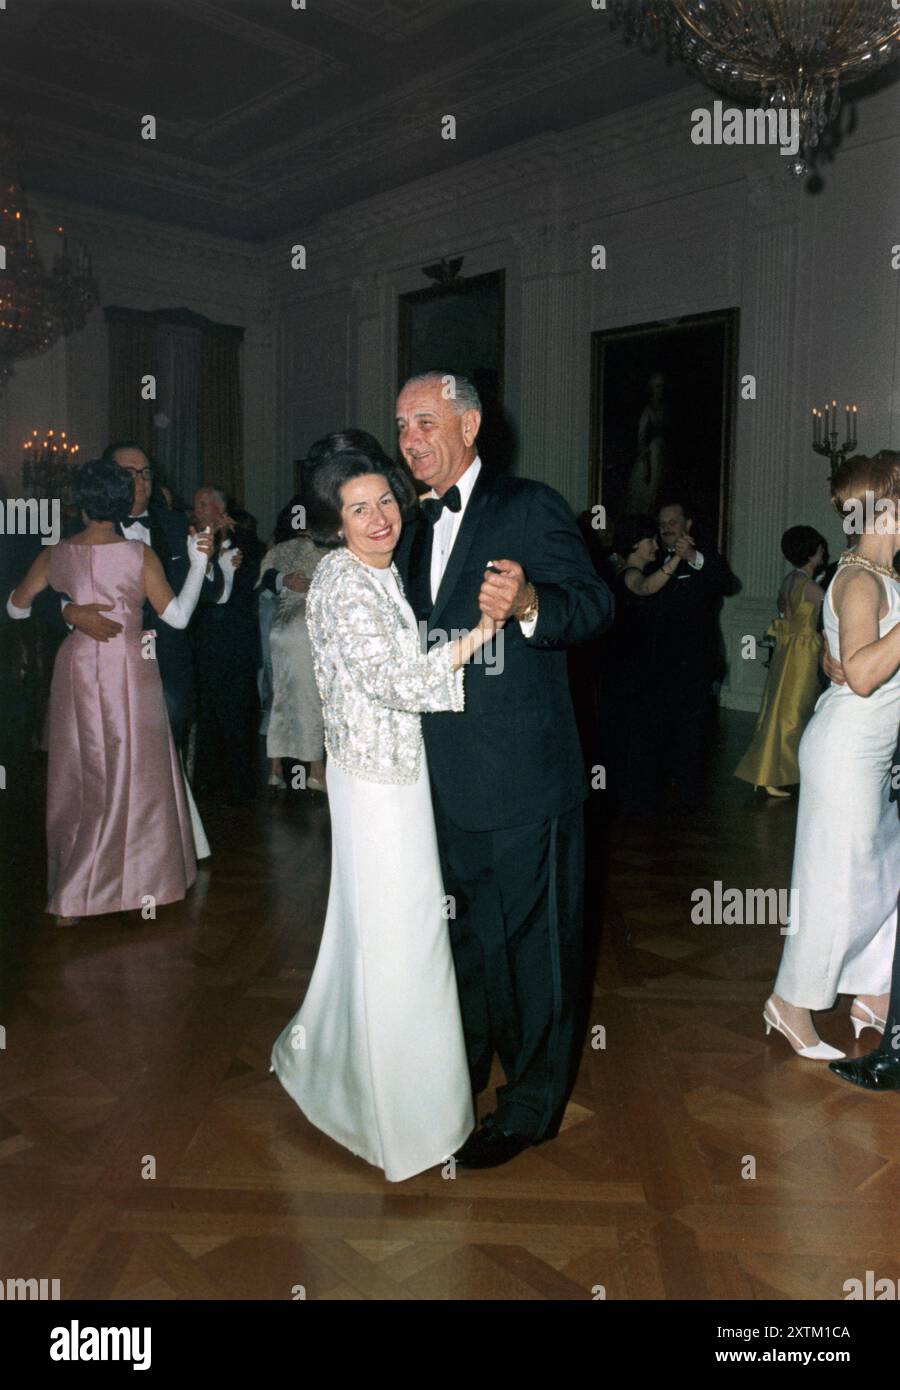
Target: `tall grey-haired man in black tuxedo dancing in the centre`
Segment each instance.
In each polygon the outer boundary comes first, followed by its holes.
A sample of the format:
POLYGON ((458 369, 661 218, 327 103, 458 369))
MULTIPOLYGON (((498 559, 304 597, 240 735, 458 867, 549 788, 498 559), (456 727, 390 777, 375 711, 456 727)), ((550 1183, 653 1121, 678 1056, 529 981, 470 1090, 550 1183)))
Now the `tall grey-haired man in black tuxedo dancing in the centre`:
POLYGON ((563 499, 492 475, 463 377, 427 374, 398 399, 399 445, 431 492, 398 567, 428 645, 469 630, 481 603, 502 634, 466 667, 462 714, 423 733, 473 1090, 494 1052, 497 1112, 456 1155, 494 1168, 559 1129, 579 1044, 587 780, 566 648, 612 621, 612 595, 563 499))

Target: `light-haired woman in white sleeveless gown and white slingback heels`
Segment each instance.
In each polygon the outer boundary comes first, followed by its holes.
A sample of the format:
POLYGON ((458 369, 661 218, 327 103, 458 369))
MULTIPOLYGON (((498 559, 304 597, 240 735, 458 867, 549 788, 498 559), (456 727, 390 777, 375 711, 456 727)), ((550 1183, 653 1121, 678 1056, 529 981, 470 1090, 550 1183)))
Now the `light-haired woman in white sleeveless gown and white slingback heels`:
POLYGON ((800 744, 790 927, 764 1011, 766 1033, 778 1029, 817 1061, 843 1054, 819 1041, 811 1011, 853 994, 858 1037, 864 1027, 883 1030, 890 991, 900 890, 900 821, 889 801, 900 720, 900 456, 849 460, 832 496, 846 530, 861 534, 823 609, 846 684, 819 698, 800 744))

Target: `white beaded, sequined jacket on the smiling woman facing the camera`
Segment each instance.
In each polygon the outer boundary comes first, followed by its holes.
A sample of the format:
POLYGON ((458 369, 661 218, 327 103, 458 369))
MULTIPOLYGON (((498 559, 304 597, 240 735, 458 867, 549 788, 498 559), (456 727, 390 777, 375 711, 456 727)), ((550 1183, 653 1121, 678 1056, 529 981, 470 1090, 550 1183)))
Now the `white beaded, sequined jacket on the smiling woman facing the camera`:
POLYGON ((363 781, 417 781, 420 713, 463 709, 463 671, 451 669, 449 644, 423 652, 417 628, 345 548, 319 563, 306 623, 328 758, 363 781))

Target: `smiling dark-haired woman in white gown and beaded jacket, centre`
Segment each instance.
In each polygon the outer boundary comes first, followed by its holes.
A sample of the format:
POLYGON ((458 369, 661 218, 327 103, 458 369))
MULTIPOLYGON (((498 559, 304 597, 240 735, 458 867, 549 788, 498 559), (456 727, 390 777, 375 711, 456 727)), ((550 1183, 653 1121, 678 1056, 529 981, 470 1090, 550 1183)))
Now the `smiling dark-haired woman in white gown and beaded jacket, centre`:
POLYGON ((323 701, 331 888, 316 969, 273 1069, 331 1138, 402 1182, 474 1125, 420 712, 463 708, 462 666, 494 631, 421 652, 392 555, 416 506, 374 452, 317 464, 306 603, 323 701))

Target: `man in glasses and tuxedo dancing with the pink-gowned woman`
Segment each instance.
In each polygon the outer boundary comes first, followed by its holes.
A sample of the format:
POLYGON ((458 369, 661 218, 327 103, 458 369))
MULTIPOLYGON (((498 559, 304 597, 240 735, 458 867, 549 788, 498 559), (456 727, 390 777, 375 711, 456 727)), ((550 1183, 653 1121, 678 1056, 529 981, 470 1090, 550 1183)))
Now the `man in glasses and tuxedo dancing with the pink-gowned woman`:
MULTIPOLYGON (((135 480, 135 500, 132 516, 121 521, 118 530, 129 541, 143 541, 159 555, 166 578, 172 592, 179 594, 191 567, 188 560, 188 518, 182 512, 172 512, 163 499, 153 496, 153 467, 147 455, 131 439, 121 439, 103 450, 103 457, 125 468, 135 480)), ((210 567, 200 589, 200 603, 218 603, 223 596, 223 575, 218 567, 210 567)), ((106 617, 109 603, 65 602, 63 617, 79 632, 86 632, 97 642, 109 642, 121 632, 121 624, 106 617)), ((185 744, 191 721, 195 716, 193 656, 186 630, 170 627, 160 621, 147 602, 143 606, 145 631, 156 632, 154 652, 159 662, 168 721, 175 746, 185 744)))

